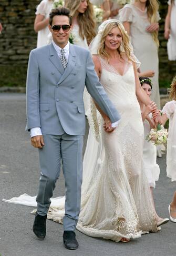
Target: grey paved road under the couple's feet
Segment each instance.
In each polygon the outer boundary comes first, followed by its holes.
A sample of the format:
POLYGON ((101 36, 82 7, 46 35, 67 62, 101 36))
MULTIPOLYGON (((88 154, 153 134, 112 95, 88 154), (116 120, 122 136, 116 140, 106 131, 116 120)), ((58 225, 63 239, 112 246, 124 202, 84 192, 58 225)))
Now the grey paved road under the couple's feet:
MULTIPOLYGON (((38 241, 32 232, 33 208, 2 202, 23 193, 37 193, 39 171, 37 150, 30 146, 25 132, 25 95, 0 94, 0 255, 1 256, 174 256, 176 224, 163 225, 158 233, 143 235, 129 243, 95 239, 76 231, 79 248, 63 247, 63 227, 47 221, 47 237, 38 241)), ((168 204, 176 186, 165 176, 165 157, 158 159, 161 174, 154 191, 156 208, 168 216, 168 204)), ((64 195, 63 175, 54 196, 64 195)))

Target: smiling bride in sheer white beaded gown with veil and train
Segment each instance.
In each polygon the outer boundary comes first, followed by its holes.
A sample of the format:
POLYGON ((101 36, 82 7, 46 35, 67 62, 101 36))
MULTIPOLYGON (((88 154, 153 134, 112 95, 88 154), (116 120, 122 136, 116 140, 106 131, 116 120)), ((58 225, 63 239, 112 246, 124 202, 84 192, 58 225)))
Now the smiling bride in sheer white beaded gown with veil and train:
MULTIPOLYGON (((111 127, 105 127, 105 131, 91 102, 77 229, 91 237, 128 241, 157 231, 149 185, 142 172, 144 136, 136 94, 145 105, 151 101, 140 86, 129 37, 119 21, 112 19, 100 25, 91 52, 98 53, 93 56, 96 71, 121 120, 115 131, 110 132, 111 127), (113 54, 117 61, 114 63, 113 54)), ((23 203, 23 197, 9 201, 23 203)), ((34 198, 27 199, 34 202, 34 198)), ((51 200, 48 219, 62 222, 64 200, 51 200)))

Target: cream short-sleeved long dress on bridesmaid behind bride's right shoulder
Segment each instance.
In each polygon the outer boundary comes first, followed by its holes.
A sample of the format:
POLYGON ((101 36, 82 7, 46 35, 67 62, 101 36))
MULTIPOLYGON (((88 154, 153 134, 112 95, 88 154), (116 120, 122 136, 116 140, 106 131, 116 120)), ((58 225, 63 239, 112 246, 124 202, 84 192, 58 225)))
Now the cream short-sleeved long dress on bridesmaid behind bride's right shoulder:
MULTIPOLYGON (((119 19, 122 23, 130 22, 131 44, 134 55, 141 62, 141 72, 147 70, 153 70, 155 72, 154 76, 151 77, 153 84, 151 100, 156 102, 158 109, 160 109, 158 48, 153 40, 152 34, 146 31, 147 26, 150 25, 147 8, 145 11, 142 11, 132 4, 127 4, 120 9, 119 19)), ((159 19, 158 14, 158 21, 159 19)))

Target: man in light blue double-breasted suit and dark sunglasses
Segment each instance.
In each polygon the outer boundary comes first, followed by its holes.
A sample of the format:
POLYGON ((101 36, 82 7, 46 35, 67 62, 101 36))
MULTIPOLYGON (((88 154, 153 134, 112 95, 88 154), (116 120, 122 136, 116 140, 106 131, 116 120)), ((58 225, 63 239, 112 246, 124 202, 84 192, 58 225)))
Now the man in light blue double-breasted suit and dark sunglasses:
POLYGON ((38 238, 45 238, 50 198, 62 159, 66 185, 64 245, 77 249, 75 228, 80 212, 85 85, 106 116, 107 131, 113 131, 113 123, 120 117, 99 83, 89 51, 68 42, 69 9, 53 9, 49 24, 53 42, 30 53, 27 71, 26 130, 30 131, 32 145, 39 149, 41 173, 33 231, 38 238))

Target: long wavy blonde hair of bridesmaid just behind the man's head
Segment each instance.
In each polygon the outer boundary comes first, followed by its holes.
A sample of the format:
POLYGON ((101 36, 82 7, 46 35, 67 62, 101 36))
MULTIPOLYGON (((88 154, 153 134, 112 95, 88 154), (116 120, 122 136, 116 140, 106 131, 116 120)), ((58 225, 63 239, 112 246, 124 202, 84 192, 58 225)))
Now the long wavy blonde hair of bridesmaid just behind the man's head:
MULTIPOLYGON (((81 0, 65 0, 65 7, 70 9, 70 16, 74 17, 81 0)), ((79 35, 84 40, 86 37, 87 43, 89 44, 92 39, 96 36, 95 27, 96 24, 94 22, 94 9, 93 5, 87 0, 87 9, 85 13, 79 13, 77 17, 77 22, 79 25, 79 35)))

